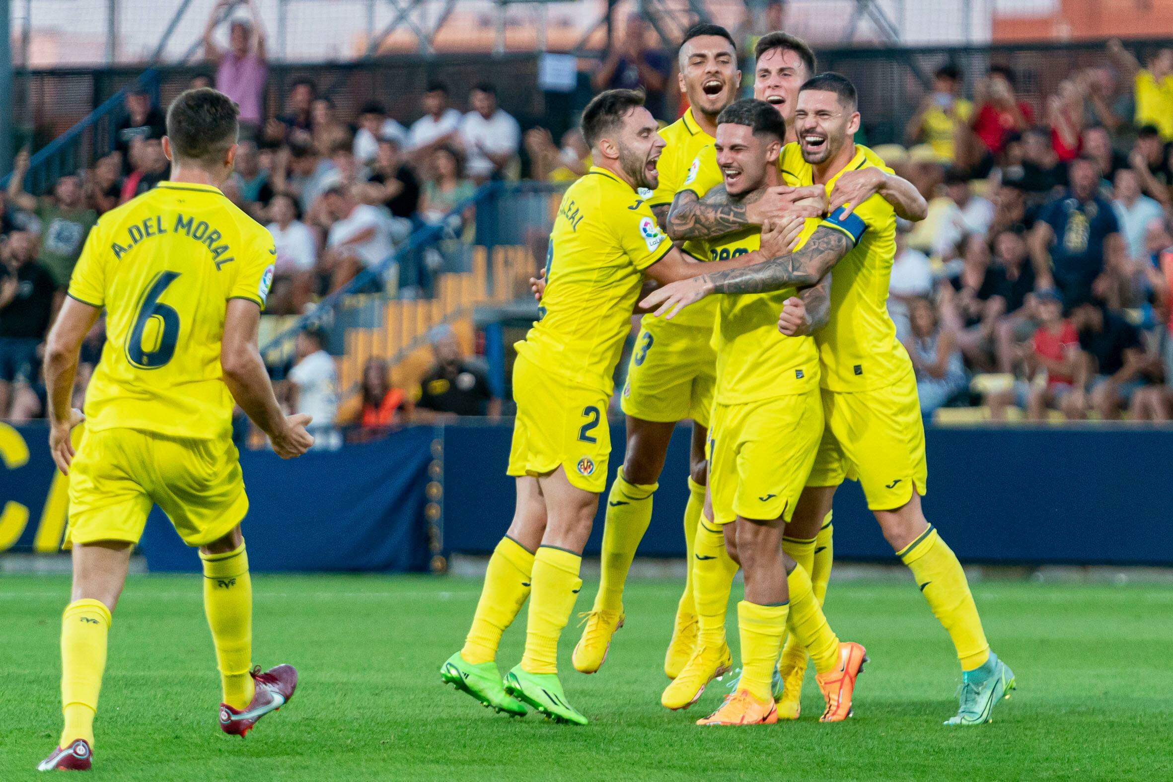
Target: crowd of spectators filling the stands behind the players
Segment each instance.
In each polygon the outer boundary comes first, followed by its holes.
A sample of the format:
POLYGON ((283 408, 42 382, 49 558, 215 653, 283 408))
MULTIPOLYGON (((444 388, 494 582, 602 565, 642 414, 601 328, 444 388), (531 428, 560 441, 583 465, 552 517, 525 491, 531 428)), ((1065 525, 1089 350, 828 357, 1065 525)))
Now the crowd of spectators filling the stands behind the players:
MULTIPOLYGON (((473 87, 461 111, 453 103, 466 96, 432 82, 422 116, 408 122, 378 101, 339 116, 330 95, 303 79, 266 115, 259 16, 250 4, 251 19, 223 22, 222 6, 205 32, 213 76, 192 86, 212 84, 240 106, 245 137, 224 195, 276 240, 270 313, 305 312, 392 256, 415 226, 443 222, 453 238, 468 238, 472 210, 453 212, 480 183, 569 182, 590 165, 577 129, 557 141, 542 127, 523 132, 489 83, 473 87)), ((649 107, 670 120, 686 107, 673 106, 672 60, 649 39, 632 16, 592 87, 644 87, 649 107)), ((947 64, 902 143, 874 147, 929 200, 925 220, 901 226, 890 291, 925 414, 982 403, 996 419, 1019 408, 1030 419, 1169 420, 1173 49, 1139 62, 1113 42, 1106 54, 1111 66, 1070 74, 1042 106, 1016 94, 1009 68, 967 74, 947 64)), ((743 73, 752 73, 748 63, 743 73)), ((131 91, 122 114, 115 149, 91 168, 32 196, 22 152, 0 193, 0 417, 43 413, 41 345, 89 229, 167 176, 161 107, 131 91)), ((413 253, 365 290, 426 292, 429 263, 413 253)), ((83 380, 101 344, 100 324, 87 340, 83 380)), ((299 361, 319 352, 310 347, 299 347, 299 361)), ((367 369, 364 409, 380 408, 392 390, 402 402, 394 415, 354 420, 413 415, 422 389, 387 388, 375 399, 387 385, 375 374, 386 368, 367 369)), ((488 412, 488 400, 470 409, 488 412)))

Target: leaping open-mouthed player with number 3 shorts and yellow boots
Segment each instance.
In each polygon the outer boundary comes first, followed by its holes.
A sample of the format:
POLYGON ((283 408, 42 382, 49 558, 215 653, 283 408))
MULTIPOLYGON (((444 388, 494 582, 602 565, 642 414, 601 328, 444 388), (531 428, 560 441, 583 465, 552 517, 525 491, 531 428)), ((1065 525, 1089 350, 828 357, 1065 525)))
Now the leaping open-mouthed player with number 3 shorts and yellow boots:
MULTIPOLYGON (((687 96, 690 108, 660 130, 665 147, 657 163, 659 183, 647 197, 647 205, 662 226, 697 152, 713 142, 717 115, 734 100, 740 83, 733 38, 717 25, 694 25, 685 33, 679 67, 680 91, 687 96)), ((575 646, 574 665, 582 673, 598 671, 611 635, 623 625, 623 586, 651 522, 652 497, 669 441, 677 422, 684 419, 693 422, 689 503, 684 512, 687 560, 692 560, 692 538, 705 504, 705 440, 717 363, 710 345, 716 304, 686 313, 679 322, 644 318, 640 324, 621 399, 626 414, 626 453, 608 497, 599 587, 575 646)), ((690 569, 664 658, 669 678, 676 676, 689 659, 696 637, 697 610, 690 569)))

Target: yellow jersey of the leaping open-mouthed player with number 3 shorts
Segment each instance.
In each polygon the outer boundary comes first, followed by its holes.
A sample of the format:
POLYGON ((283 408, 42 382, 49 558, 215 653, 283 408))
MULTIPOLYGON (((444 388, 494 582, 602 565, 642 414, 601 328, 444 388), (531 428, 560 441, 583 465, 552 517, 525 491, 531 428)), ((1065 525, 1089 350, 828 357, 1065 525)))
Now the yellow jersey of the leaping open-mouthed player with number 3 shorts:
MULTIPOLYGON (((697 120, 692 116, 692 109, 684 113, 684 116, 662 128, 660 137, 666 142, 664 151, 660 152, 656 170, 659 172, 659 184, 647 199, 649 206, 669 206, 676 193, 684 186, 684 181, 691 176, 692 165, 697 159, 697 154, 705 147, 711 147, 713 137, 700 129, 697 120)), ((720 175, 720 171, 717 172, 720 175)), ((703 256, 704 252, 694 242, 685 242, 684 251, 692 257, 703 256)), ((663 318, 644 317, 643 327, 651 332, 655 339, 660 339, 665 332, 678 329, 682 326, 706 329, 705 340, 708 339, 707 329, 712 328, 713 319, 717 317, 716 301, 699 301, 692 307, 686 307, 672 320, 663 318)))

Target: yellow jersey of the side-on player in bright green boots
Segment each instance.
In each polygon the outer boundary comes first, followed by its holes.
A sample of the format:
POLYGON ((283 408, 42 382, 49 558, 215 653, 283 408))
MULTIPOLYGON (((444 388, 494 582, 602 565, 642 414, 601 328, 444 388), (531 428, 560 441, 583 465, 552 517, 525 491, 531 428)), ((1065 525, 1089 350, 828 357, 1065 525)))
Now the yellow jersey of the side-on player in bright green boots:
POLYGON ((572 383, 613 390, 615 365, 647 268, 672 249, 651 208, 592 166, 562 197, 545 253, 540 315, 518 354, 572 383))

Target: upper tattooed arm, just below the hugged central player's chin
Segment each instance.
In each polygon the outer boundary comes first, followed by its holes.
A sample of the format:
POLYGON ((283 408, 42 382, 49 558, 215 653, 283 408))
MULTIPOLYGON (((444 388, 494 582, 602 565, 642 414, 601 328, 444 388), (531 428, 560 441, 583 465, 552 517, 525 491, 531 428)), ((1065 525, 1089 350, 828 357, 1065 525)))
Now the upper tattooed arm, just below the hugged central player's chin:
POLYGON ((821 217, 827 211, 827 196, 821 186, 764 188, 733 198, 720 184, 699 198, 682 190, 672 199, 664 230, 673 240, 723 236, 747 225, 761 225, 767 219, 821 217))

